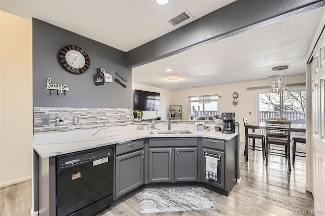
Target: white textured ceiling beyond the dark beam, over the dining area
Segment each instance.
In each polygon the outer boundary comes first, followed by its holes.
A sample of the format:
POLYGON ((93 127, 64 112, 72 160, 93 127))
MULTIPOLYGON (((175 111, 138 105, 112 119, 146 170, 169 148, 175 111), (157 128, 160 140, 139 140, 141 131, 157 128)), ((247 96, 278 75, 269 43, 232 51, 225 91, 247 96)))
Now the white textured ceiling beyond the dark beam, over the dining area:
POLYGON ((286 64, 287 76, 305 74, 307 52, 325 7, 133 68, 133 82, 186 89, 267 79, 286 64), (166 72, 170 68, 172 72, 166 72), (168 82, 177 77, 178 82, 168 82))

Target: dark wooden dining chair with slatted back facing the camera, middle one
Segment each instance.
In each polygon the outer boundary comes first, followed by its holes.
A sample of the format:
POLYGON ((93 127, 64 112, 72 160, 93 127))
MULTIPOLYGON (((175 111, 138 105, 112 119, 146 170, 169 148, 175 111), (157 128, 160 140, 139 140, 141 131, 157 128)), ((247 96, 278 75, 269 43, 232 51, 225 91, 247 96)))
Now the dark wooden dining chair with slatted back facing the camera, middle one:
POLYGON ((269 155, 284 156, 287 159, 289 171, 291 171, 290 131, 291 121, 266 121, 266 166, 269 162, 269 155), (271 144, 276 146, 284 146, 285 149, 271 149, 271 144))

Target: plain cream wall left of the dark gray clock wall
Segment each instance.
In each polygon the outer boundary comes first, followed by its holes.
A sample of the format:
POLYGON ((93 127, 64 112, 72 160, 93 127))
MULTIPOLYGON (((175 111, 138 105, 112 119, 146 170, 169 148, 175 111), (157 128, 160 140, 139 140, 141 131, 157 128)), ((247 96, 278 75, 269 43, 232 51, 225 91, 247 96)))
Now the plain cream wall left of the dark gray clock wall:
POLYGON ((31 21, 0 11, 0 187, 31 178, 31 21))

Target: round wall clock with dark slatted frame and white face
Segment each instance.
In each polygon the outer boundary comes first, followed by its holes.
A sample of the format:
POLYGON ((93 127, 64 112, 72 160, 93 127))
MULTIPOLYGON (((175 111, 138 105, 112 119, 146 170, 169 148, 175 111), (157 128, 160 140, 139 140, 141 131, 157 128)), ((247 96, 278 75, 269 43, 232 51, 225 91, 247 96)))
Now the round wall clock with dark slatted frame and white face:
POLYGON ((86 51, 76 45, 67 45, 60 49, 59 59, 64 68, 74 74, 83 74, 90 66, 86 51))

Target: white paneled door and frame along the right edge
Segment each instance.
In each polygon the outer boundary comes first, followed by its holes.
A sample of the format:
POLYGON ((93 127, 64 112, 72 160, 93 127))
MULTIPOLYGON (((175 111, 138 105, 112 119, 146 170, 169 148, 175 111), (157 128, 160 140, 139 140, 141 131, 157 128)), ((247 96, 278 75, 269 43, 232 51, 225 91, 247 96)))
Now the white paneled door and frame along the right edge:
POLYGON ((325 160, 325 150, 323 148, 324 141, 322 138, 324 136, 322 129, 324 127, 324 119, 320 104, 324 100, 324 98, 321 98, 323 97, 323 90, 321 90, 323 86, 321 85, 323 85, 324 68, 321 67, 325 65, 320 65, 320 62, 323 62, 323 49, 325 49, 324 27, 325 14, 321 19, 313 43, 309 49, 308 59, 306 59, 306 190, 312 192, 315 210, 320 210, 321 214, 325 210, 325 196, 322 191, 325 188, 325 165, 323 162, 325 160), (321 38, 319 38, 320 35, 321 38), (310 59, 312 58, 313 60, 311 61, 310 59), (319 60, 319 58, 321 59, 319 60), (315 71, 318 71, 317 74, 315 71), (315 109, 313 109, 313 106, 315 106, 315 109), (317 113, 314 115, 314 112, 317 113), (313 119, 314 122, 312 121, 313 119))

